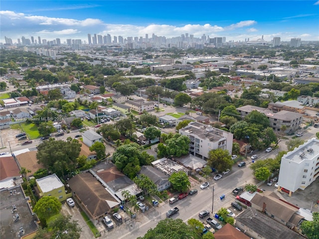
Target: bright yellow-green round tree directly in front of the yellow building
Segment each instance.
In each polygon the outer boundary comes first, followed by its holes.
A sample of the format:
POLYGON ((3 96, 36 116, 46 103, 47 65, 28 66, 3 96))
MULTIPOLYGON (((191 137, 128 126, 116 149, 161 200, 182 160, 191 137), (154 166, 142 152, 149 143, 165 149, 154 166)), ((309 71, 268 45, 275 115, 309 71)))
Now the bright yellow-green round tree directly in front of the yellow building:
POLYGON ((58 214, 61 208, 62 204, 56 197, 44 196, 35 204, 34 212, 40 220, 47 220, 49 217, 58 214))

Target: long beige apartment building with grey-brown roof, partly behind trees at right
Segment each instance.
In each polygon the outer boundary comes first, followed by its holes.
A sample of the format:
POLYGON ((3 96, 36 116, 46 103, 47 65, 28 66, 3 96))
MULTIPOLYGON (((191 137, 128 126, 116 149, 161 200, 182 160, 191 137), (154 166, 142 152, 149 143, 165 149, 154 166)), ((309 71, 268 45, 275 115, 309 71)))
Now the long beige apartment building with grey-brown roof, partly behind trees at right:
POLYGON ((258 111, 267 116, 270 121, 270 127, 275 131, 280 131, 283 125, 286 125, 287 130, 285 133, 294 132, 299 129, 303 121, 303 115, 291 111, 272 112, 268 109, 256 107, 256 106, 243 106, 236 109, 241 116, 245 117, 252 111, 258 111))

